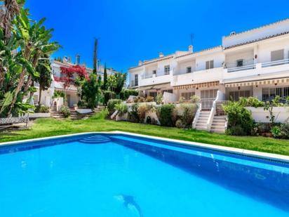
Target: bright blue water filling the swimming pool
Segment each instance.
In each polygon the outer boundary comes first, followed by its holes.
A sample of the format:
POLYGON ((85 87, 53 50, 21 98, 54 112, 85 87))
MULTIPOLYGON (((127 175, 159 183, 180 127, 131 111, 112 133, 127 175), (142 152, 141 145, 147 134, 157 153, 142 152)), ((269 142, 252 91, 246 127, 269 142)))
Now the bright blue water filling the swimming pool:
POLYGON ((289 216, 289 165, 133 136, 0 147, 0 216, 289 216))

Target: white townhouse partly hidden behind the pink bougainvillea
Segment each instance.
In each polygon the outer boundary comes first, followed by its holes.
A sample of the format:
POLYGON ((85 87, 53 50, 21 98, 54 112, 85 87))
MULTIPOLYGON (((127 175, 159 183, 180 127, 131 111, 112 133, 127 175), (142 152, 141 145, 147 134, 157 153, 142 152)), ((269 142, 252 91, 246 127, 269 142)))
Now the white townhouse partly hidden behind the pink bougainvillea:
MULTIPOLYGON (((78 63, 80 64, 80 63, 78 63)), ((63 58, 60 60, 52 60, 51 61, 51 68, 53 71, 52 76, 52 83, 51 87, 48 88, 47 91, 42 91, 41 93, 41 105, 46 105, 48 107, 52 107, 53 109, 53 94, 55 91, 65 91, 63 83, 60 81, 55 81, 55 77, 63 77, 60 67, 72 67, 74 64, 69 60, 69 58, 63 58)), ((85 66, 85 65, 83 65, 85 66)), ((105 68, 102 65, 98 65, 98 72, 97 74, 100 75, 103 79, 105 68)), ((86 67, 86 72, 88 74, 93 73, 93 69, 86 67)), ((107 68, 107 74, 113 74, 116 72, 113 68, 107 68)), ((38 84, 35 84, 36 88, 38 88, 38 84)), ((67 93, 67 105, 68 107, 74 107, 75 104, 79 102, 79 96, 77 95, 77 87, 74 85, 69 86, 66 89, 67 93)), ((34 93, 34 104, 38 104, 39 102, 39 90, 34 93)))

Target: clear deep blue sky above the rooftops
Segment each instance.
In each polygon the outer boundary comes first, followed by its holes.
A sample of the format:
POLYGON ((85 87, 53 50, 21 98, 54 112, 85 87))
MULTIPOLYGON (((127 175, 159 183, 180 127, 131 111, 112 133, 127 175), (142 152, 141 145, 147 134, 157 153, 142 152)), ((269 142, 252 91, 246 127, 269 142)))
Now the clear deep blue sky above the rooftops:
POLYGON ((288 0, 27 0, 26 6, 55 29, 53 39, 63 48, 54 56, 79 53, 91 67, 97 37, 98 58, 123 72, 159 52, 187 50, 191 33, 199 51, 220 45, 232 31, 289 18, 288 0))

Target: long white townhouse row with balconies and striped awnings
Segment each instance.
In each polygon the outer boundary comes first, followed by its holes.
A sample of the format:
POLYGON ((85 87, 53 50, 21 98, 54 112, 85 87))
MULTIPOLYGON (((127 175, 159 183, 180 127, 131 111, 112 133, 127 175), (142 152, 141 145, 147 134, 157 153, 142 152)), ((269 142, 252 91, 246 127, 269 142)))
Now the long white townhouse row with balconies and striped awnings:
POLYGON ((203 101, 289 96, 289 19, 231 32, 222 45, 203 51, 189 46, 188 51, 160 53, 128 72, 130 88, 147 96, 165 93, 168 102, 194 95, 203 101))

